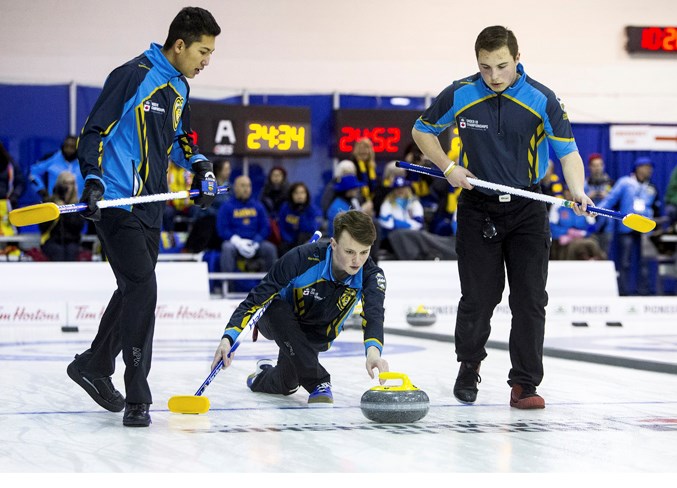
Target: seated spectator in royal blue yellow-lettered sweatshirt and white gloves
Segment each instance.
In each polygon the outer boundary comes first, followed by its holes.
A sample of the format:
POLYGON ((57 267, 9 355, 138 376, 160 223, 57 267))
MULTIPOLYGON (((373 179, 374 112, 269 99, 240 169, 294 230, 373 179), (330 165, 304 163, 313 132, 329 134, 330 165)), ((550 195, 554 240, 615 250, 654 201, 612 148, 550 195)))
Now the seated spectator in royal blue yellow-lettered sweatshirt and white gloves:
POLYGON ((248 176, 238 176, 233 189, 234 198, 221 205, 216 217, 216 230, 223 240, 221 271, 267 272, 277 259, 277 248, 266 240, 270 217, 263 204, 252 197, 248 176))

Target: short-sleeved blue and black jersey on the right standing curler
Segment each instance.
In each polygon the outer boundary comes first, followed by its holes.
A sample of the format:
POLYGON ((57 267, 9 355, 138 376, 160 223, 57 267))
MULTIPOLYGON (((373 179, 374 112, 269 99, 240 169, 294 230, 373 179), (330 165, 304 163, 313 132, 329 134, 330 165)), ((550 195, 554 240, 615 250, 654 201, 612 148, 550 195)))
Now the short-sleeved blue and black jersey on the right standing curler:
POLYGON ((529 78, 521 64, 517 72, 520 77, 502 93, 491 90, 479 73, 454 81, 414 127, 439 135, 455 124, 461 138, 458 162, 481 180, 516 188, 538 183, 548 168, 548 140, 558 158, 578 147, 555 94, 529 78))

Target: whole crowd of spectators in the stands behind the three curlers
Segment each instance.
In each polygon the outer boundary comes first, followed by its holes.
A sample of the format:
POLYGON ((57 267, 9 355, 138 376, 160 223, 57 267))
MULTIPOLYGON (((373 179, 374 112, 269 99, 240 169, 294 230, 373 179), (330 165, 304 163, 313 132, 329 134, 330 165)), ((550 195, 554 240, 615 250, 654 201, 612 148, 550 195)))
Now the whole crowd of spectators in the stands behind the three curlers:
MULTIPOLYGON (((74 158, 75 144, 74 136, 66 137, 60 150, 36 162, 25 179, 0 145, 0 235, 4 236, 0 252, 4 255, 19 252, 7 240, 17 232, 7 215, 17 207, 25 185, 32 185, 44 202, 65 204, 79 200, 82 177, 74 158)), ((458 148, 452 145, 450 157, 455 150, 458 148)), ((404 159, 430 165, 415 145, 404 159)), ((551 163, 541 190, 569 199, 551 163)), ((319 188, 310 188, 304 181, 289 181, 281 165, 272 167, 259 188, 253 188, 252 180, 245 175, 231 181, 232 170, 229 160, 214 160, 219 185, 229 186, 230 191, 219 195, 207 210, 193 205, 190 199, 167 202, 161 251, 206 253, 211 271, 266 272, 279 256, 306 242, 316 230, 329 239, 336 214, 358 209, 376 224, 378 238, 372 248, 376 261, 456 258, 455 215, 461 189, 450 187, 443 179, 405 172, 395 161, 377 164, 368 139, 358 141, 352 157, 339 161, 330 179, 319 188)), ((677 169, 672 172, 664 200, 651 183, 652 171, 652 162, 639 158, 628 175, 613 181, 601 154, 591 154, 586 191, 599 207, 658 219, 658 232, 675 233, 677 169)), ((169 191, 190 186, 191 174, 170 165, 169 191)), ((613 259, 621 295, 654 291, 648 278, 651 256, 647 256, 646 249, 652 245, 648 236, 614 219, 577 216, 566 206, 548 207, 552 260, 613 259)), ((33 250, 33 259, 91 259, 93 249, 80 238, 91 230, 74 214, 61 216, 35 231, 40 234, 40 245, 33 250)))

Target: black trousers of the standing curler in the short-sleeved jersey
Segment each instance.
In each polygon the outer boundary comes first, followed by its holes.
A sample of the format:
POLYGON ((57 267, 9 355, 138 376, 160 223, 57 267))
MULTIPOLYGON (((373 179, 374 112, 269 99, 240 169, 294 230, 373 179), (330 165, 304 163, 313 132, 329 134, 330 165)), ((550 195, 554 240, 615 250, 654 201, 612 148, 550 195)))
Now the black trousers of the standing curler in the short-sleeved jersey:
POLYGON ((491 317, 507 273, 512 312, 508 383, 537 386, 543 379, 548 303, 550 227, 545 204, 515 197, 500 203, 474 193, 462 192, 458 207, 456 251, 462 296, 456 317, 457 359, 475 362, 487 356, 491 317), (498 231, 493 239, 482 234, 487 218, 498 231))

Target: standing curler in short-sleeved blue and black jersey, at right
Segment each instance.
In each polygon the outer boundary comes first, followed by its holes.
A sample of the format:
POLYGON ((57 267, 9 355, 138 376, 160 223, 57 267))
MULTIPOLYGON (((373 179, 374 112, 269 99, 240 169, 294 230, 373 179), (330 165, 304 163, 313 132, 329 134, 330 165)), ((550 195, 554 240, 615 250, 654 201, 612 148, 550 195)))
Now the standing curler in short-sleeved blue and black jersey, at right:
POLYGON ((584 168, 569 117, 552 90, 530 78, 519 62, 514 33, 489 26, 475 41, 479 71, 445 88, 416 121, 414 141, 462 187, 458 202, 456 251, 463 296, 456 315, 456 358, 461 363, 454 396, 477 399, 480 363, 487 356, 491 317, 500 303, 506 274, 510 283, 512 367, 510 406, 544 408, 536 387, 543 379, 543 340, 550 229, 545 204, 534 199, 473 188, 468 177, 540 191, 549 144, 562 163, 574 211, 592 204, 584 190, 584 168), (437 136, 455 125, 461 139, 457 160, 437 136))

